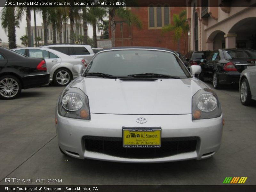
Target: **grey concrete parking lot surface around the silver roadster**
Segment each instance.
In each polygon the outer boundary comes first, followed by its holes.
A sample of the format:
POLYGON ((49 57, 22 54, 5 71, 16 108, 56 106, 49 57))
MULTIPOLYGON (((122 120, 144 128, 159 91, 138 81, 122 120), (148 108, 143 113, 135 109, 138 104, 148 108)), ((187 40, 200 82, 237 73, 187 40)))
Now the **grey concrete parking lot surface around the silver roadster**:
POLYGON ((200 161, 161 164, 80 160, 61 154, 54 112, 63 89, 43 86, 22 90, 16 100, 0 100, 0 185, 221 185, 226 177, 248 177, 244 185, 256 185, 256 104, 243 106, 238 86, 215 90, 225 119, 218 153, 200 161), (13 177, 62 182, 5 182, 13 177))

